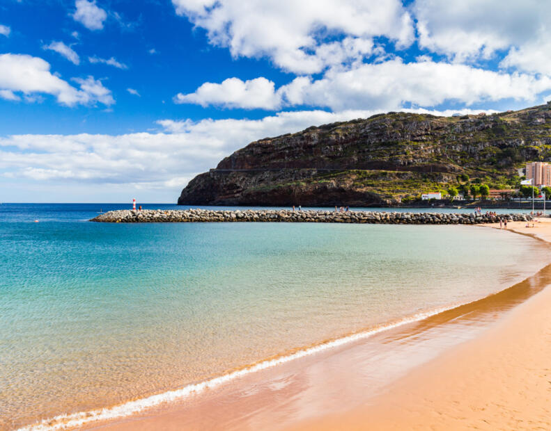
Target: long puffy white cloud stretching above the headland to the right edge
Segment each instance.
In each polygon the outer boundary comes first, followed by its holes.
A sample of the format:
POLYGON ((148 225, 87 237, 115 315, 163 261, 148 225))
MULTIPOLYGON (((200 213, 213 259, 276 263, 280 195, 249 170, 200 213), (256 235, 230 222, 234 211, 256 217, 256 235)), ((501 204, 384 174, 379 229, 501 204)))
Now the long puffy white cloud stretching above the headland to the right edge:
POLYGON ((196 92, 180 93, 175 101, 272 110, 296 105, 326 106, 333 111, 396 110, 404 104, 429 107, 445 101, 467 106, 508 98, 534 101, 540 92, 550 88, 551 79, 546 76, 492 72, 469 65, 435 63, 430 58, 423 58, 420 63, 403 63, 395 58, 351 69, 335 67, 318 80, 299 76, 277 90, 265 78, 204 83, 196 92))

